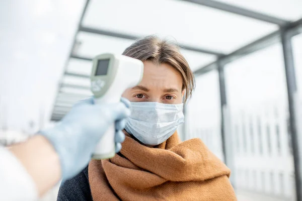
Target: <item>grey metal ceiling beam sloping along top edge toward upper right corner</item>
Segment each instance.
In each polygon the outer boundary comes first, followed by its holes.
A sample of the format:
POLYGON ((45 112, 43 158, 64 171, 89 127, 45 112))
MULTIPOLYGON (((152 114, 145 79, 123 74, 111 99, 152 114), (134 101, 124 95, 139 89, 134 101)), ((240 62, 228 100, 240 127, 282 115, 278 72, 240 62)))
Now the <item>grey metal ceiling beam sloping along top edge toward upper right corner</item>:
POLYGON ((224 3, 213 1, 213 0, 182 0, 182 1, 191 2, 194 4, 210 7, 213 9, 218 9, 221 11, 238 14, 241 16, 246 16, 249 18, 261 20, 263 22, 268 22, 268 23, 279 25, 279 26, 284 26, 287 23, 289 23, 289 21, 284 20, 284 19, 276 18, 276 17, 269 16, 269 15, 266 15, 263 13, 251 11, 248 9, 244 9, 244 8, 229 5, 229 4, 224 4, 224 3))

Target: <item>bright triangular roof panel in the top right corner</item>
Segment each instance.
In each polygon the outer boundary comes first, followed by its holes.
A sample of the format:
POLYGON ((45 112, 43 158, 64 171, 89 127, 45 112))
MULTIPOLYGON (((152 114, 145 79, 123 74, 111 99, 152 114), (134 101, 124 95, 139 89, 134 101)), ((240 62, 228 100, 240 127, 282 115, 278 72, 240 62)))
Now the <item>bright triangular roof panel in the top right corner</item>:
POLYGON ((302 18, 301 0, 218 0, 218 2, 242 7, 284 20, 295 21, 302 18))

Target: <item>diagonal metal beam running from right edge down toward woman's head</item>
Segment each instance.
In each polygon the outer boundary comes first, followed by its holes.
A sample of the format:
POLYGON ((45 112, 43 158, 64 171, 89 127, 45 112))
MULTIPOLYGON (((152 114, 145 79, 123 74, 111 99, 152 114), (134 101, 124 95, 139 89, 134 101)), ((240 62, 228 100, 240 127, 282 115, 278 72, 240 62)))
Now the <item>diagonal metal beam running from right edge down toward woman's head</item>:
MULTIPOLYGON (((302 30, 300 30, 300 29, 297 31, 297 28, 300 28, 300 27, 302 27, 302 19, 292 22, 292 23, 286 25, 286 27, 284 27, 282 29, 286 30, 287 32, 290 32, 291 37, 292 37, 292 36, 297 35, 302 32, 302 30), (292 32, 292 31, 294 31, 294 32, 292 32)), ((246 56, 246 55, 256 52, 258 50, 269 47, 280 41, 281 41, 281 31, 277 30, 271 34, 268 34, 256 41, 242 47, 242 48, 239 48, 238 50, 236 50, 226 56, 219 57, 216 61, 211 62, 208 65, 198 68, 197 70, 194 71, 194 74, 195 75, 205 74, 213 69, 217 69, 218 61, 220 61, 222 63, 222 65, 225 65, 227 63, 234 61, 235 59, 239 59, 243 56, 246 56)))

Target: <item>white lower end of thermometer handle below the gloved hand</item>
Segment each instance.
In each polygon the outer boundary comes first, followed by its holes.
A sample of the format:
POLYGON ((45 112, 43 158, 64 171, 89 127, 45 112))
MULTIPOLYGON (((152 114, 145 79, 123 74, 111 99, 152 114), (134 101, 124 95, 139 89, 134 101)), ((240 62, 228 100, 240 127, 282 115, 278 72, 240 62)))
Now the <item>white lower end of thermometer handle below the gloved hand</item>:
POLYGON ((110 125, 99 141, 92 158, 96 160, 112 158, 115 155, 115 126, 110 125))

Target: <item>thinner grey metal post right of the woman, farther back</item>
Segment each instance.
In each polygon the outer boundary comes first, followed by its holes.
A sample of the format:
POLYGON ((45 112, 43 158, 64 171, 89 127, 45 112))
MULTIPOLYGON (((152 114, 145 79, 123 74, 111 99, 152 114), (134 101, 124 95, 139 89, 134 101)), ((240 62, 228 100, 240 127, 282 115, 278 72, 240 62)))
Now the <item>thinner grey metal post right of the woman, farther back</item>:
POLYGON ((224 66, 218 61, 218 75, 219 75, 219 91, 220 91, 220 106, 221 106, 221 144, 222 152, 224 156, 224 163, 233 171, 230 177, 230 181, 234 188, 236 188, 235 180, 235 160, 233 149, 233 137, 231 132, 230 121, 230 108, 226 100, 225 90, 225 78, 224 78, 224 66))

